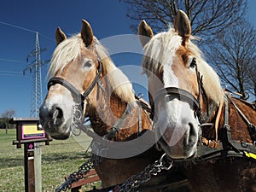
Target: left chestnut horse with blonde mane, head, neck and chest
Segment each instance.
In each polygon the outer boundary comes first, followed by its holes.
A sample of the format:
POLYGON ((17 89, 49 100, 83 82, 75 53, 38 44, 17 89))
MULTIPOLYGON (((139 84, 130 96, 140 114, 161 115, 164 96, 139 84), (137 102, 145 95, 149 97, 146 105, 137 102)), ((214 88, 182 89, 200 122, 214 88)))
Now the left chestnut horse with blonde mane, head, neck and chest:
POLYGON ((55 38, 57 47, 48 72, 49 90, 39 113, 44 130, 55 139, 67 139, 79 123, 77 119, 89 117, 98 136, 124 144, 121 157, 118 152, 113 156, 113 151, 112 156, 104 156, 106 148, 93 144, 104 157, 96 165, 102 186, 124 183, 160 158, 160 152, 150 149, 154 134, 150 134, 151 119, 142 108, 143 102, 137 101, 131 82, 115 67, 87 21, 82 20, 81 32, 71 38, 58 27, 55 38), (147 130, 151 143, 146 148, 142 148, 147 145, 145 140, 137 145, 128 143, 146 135, 147 130), (136 150, 137 154, 132 154, 136 150))

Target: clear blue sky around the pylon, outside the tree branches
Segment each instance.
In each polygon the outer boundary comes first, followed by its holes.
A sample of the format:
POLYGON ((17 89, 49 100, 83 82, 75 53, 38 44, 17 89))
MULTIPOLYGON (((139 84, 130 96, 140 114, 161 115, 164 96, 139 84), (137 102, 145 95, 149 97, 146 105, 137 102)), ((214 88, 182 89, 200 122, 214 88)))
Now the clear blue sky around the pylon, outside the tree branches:
MULTIPOLYGON (((256 1, 248 1, 248 20, 256 28, 256 1)), ((32 75, 23 69, 35 46, 35 32, 39 32, 41 55, 49 60, 55 49, 55 29, 67 36, 80 32, 81 20, 90 22, 98 39, 132 34, 131 20, 125 17, 126 7, 119 0, 3 0, 0 6, 0 114, 15 109, 15 117, 29 117, 31 109, 32 75)), ((134 62, 139 65, 139 56, 134 62)), ((114 61, 123 65, 130 55, 117 56, 114 61), (123 60, 124 62, 122 63, 123 60)), ((32 61, 32 59, 31 59, 32 61)), ((130 63, 131 64, 131 63, 130 63)), ((43 99, 46 95, 45 74, 42 67, 43 99)))

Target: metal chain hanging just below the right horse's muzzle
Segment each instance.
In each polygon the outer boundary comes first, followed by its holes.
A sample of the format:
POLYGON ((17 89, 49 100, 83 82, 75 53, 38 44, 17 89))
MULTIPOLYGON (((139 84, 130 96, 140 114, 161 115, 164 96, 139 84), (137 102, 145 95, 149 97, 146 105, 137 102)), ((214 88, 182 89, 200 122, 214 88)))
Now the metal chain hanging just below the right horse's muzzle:
POLYGON ((156 176, 162 170, 170 170, 173 161, 165 160, 165 156, 166 154, 163 154, 160 160, 156 160, 154 164, 146 166, 143 172, 131 176, 125 183, 116 186, 114 189, 117 189, 119 192, 130 192, 131 190, 137 189, 142 183, 148 182, 152 176, 156 176))

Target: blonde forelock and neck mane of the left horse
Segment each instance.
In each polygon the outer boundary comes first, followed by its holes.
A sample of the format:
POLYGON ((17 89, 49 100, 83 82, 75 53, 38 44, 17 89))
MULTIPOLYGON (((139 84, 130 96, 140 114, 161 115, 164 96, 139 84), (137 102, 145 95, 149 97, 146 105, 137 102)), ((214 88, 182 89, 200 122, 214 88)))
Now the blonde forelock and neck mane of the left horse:
MULTIPOLYGON (((104 78, 108 82, 108 91, 115 93, 124 102, 135 100, 134 91, 129 79, 117 68, 108 55, 107 49, 94 37, 96 55, 102 61, 104 78)), ((59 70, 63 70, 67 64, 80 55, 80 50, 84 48, 84 42, 80 34, 67 38, 59 44, 50 61, 47 78, 55 76, 59 70)))

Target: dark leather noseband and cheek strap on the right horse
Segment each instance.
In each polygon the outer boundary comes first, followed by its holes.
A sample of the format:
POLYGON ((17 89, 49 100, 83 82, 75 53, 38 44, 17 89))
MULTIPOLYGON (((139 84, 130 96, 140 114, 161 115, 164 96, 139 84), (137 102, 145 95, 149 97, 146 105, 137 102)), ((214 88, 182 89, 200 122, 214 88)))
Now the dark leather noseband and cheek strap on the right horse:
MULTIPOLYGON (((195 59, 194 59, 194 62, 196 62, 195 59)), ((160 99, 160 96, 162 95, 168 96, 169 101, 172 101, 173 99, 178 99, 179 101, 187 102, 195 110, 195 116, 198 119, 201 119, 201 104, 200 104, 201 93, 204 94, 206 97, 207 95, 203 88, 202 76, 198 72, 196 65, 195 65, 195 72, 197 76, 197 84, 198 84, 198 90, 199 90, 198 98, 195 98, 195 96, 193 96, 187 90, 183 90, 177 87, 166 87, 158 90, 157 96, 154 97, 154 102, 157 102, 160 99)), ((206 100, 207 100, 207 113, 208 113, 208 98, 206 100)))

